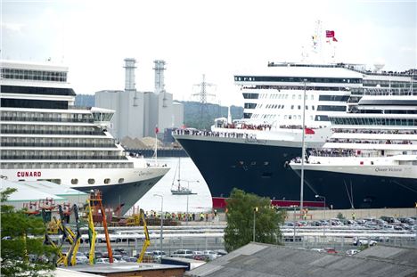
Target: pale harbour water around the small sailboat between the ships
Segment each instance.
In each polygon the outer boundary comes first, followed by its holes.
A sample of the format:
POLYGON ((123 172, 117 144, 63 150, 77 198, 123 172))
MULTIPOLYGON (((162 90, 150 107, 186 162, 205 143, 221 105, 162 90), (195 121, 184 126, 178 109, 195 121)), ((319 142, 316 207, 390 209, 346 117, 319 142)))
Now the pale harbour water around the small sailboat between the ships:
MULTIPOLYGON (((192 213, 211 211, 211 194, 207 183, 200 175, 199 169, 194 165, 190 158, 159 158, 159 163, 167 164, 171 169, 162 179, 156 183, 153 188, 148 191, 141 200, 139 200, 135 207, 143 208, 145 211, 160 210, 160 197, 154 194, 162 195, 163 210, 168 212, 186 212, 187 197, 188 197, 188 211, 192 213), (181 163, 181 186, 188 187, 192 190, 191 195, 173 195, 171 187, 174 179, 178 179, 178 170, 176 167, 178 162, 181 163), (188 182, 187 182, 188 181, 188 182), (197 182, 198 181, 198 182, 197 182)), ((175 184, 177 181, 175 180, 175 184)))

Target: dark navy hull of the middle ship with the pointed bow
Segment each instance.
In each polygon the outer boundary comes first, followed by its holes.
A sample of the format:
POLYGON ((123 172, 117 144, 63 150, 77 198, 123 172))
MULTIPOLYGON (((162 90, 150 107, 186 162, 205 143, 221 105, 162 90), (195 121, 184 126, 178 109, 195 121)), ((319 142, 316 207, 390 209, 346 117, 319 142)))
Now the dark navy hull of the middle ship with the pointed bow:
POLYGON ((279 200, 299 200, 300 181, 288 160, 301 155, 296 143, 176 135, 199 168, 212 197, 228 197, 233 188, 279 200))

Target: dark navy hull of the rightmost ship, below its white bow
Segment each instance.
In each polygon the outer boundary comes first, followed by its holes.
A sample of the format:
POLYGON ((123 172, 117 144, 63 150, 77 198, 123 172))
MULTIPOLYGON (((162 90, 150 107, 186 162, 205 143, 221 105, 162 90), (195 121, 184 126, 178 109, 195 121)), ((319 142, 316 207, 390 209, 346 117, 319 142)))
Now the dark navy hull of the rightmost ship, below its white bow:
MULTIPOLYGON (((300 175, 300 170, 295 170, 300 175)), ((358 171, 356 171, 358 172, 358 171)), ((304 170, 305 191, 326 198, 332 208, 413 208, 417 179, 326 170, 304 170)))

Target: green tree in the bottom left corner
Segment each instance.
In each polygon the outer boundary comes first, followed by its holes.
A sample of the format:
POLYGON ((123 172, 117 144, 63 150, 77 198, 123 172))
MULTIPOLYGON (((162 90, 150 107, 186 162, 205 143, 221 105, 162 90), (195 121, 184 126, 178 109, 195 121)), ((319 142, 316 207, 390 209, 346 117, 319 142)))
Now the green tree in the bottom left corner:
POLYGON ((2 276, 49 276, 55 267, 54 251, 43 243, 43 220, 4 205, 14 191, 7 188, 1 192, 2 276))

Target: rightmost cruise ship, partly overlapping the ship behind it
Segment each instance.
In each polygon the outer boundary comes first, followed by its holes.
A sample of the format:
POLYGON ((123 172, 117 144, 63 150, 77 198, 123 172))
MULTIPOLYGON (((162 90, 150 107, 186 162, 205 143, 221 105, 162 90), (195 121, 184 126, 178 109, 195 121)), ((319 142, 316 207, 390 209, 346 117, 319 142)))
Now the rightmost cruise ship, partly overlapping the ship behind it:
POLYGON ((331 116, 323 149, 290 162, 305 191, 333 208, 413 208, 417 203, 417 79, 365 89, 343 116, 331 116), (392 84, 395 85, 395 84, 392 84), (397 84, 399 85, 399 84, 397 84))

